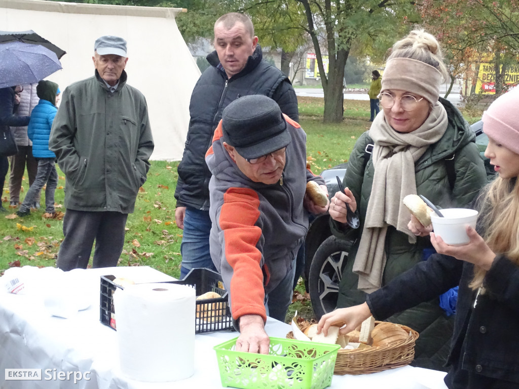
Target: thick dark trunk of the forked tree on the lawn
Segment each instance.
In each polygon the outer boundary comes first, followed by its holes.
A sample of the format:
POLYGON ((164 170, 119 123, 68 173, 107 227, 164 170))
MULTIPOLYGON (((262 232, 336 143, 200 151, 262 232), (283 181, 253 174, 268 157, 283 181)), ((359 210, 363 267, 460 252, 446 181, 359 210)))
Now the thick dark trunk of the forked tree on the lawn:
MULTIPOLYGON (((330 66, 327 88, 324 89, 324 117, 325 123, 340 123, 344 113, 343 78, 344 66, 348 59, 349 50, 339 49, 335 66, 330 66)), ((331 61, 332 62, 332 61, 331 61)))

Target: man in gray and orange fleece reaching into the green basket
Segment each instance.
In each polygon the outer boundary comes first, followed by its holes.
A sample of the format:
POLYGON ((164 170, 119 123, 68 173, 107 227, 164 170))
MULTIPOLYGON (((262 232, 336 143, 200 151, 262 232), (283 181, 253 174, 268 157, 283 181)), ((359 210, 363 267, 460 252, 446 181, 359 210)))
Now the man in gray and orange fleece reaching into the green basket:
POLYGON ((306 168, 306 134, 264 95, 237 99, 223 111, 206 154, 211 258, 229 290, 240 331, 238 351, 267 353, 267 316, 284 321, 292 300, 295 258, 308 214, 326 212, 305 196, 324 180, 306 168))

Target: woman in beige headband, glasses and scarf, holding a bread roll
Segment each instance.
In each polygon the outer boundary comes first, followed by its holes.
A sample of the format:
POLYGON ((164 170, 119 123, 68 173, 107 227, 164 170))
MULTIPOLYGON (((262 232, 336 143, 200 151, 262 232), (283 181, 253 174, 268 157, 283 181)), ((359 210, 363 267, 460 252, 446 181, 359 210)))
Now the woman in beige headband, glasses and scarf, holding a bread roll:
MULTIPOLYGON (((360 235, 339 284, 337 307, 351 307, 434 252, 428 231, 408 228, 407 195, 424 195, 443 207, 467 207, 486 184, 475 135, 456 107, 440 98, 447 75, 438 41, 414 30, 393 45, 382 77, 381 112, 359 137, 331 200, 331 229, 351 238, 346 204, 358 212, 360 235), (367 160, 366 152, 371 151, 367 160), (367 160, 367 162, 366 162, 367 160)), ((438 298, 387 320, 420 332, 415 366, 442 369, 453 320, 438 298)))

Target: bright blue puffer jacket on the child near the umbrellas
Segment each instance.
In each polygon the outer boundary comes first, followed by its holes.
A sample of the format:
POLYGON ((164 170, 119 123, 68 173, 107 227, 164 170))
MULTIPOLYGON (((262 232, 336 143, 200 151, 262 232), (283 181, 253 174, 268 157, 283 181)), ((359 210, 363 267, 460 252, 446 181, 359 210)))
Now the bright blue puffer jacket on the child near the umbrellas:
POLYGON ((56 158, 49 150, 49 136, 52 121, 58 108, 50 101, 40 100, 31 113, 27 134, 33 143, 34 158, 56 158))

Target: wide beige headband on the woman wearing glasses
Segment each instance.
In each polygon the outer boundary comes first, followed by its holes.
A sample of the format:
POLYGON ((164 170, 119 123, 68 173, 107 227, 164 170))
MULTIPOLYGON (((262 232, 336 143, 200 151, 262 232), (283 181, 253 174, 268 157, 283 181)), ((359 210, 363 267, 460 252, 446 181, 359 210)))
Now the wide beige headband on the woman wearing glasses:
POLYGON ((382 75, 382 91, 398 89, 423 96, 435 104, 440 96, 442 74, 434 66, 411 58, 392 58, 382 75))

